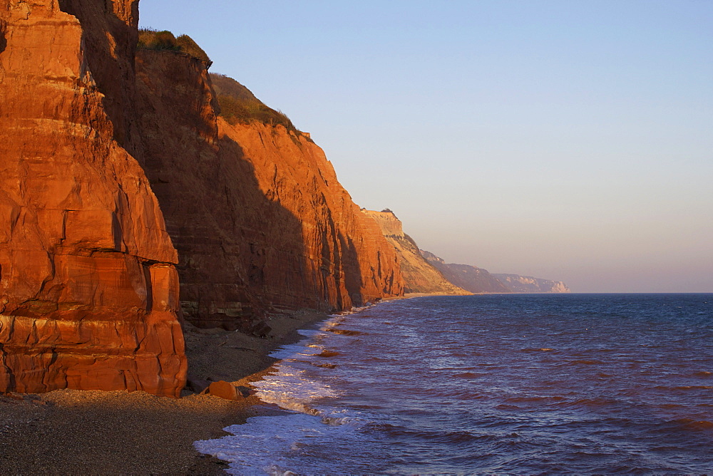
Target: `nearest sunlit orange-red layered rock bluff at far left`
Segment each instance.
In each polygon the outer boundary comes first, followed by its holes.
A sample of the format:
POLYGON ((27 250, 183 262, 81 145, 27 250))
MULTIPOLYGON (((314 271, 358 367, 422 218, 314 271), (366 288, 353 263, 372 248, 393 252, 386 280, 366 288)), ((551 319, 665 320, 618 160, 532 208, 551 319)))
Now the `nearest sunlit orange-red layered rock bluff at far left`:
POLYGON ((184 386, 176 252, 125 149, 137 5, 0 0, 0 391, 184 386))

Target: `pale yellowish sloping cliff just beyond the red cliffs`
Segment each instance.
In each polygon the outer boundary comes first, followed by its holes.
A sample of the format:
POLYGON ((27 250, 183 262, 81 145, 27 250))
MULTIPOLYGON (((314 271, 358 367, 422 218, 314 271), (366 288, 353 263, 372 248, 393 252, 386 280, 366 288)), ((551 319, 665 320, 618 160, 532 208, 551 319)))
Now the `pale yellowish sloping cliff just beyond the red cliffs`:
POLYGON ((404 291, 407 293, 429 294, 470 294, 465 289, 452 284, 441 271, 429 263, 422 255, 414 239, 404 233, 401 220, 393 212, 374 212, 362 209, 366 217, 379 224, 381 234, 396 249, 404 275, 404 291))

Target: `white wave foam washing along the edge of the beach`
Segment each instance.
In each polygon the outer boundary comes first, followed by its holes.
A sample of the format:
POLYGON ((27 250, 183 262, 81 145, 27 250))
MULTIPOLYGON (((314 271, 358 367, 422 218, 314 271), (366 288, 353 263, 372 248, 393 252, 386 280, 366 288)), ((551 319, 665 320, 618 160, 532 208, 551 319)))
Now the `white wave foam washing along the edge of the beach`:
POLYGON ((233 475, 287 476, 323 470, 324 461, 312 466, 309 461, 314 455, 302 455, 305 448, 349 439, 349 435, 353 438, 356 428, 364 425, 346 410, 329 409, 324 400, 321 408, 317 406, 318 400, 338 396, 326 380, 317 377, 319 368, 312 363, 323 361, 317 356, 325 350, 321 341, 334 338, 328 331, 342 321, 343 315, 332 316, 318 329, 299 331, 304 340, 270 354, 280 359, 276 372, 252 383, 260 400, 297 413, 248 418, 244 425, 225 428, 230 436, 195 442, 196 449, 230 462, 227 472, 233 475))

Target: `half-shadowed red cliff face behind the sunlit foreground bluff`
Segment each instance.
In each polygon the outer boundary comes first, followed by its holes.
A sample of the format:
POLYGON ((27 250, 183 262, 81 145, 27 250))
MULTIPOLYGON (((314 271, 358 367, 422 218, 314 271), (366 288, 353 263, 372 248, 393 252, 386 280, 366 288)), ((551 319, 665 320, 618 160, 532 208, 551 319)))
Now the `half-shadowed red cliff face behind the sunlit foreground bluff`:
POLYGON ((196 58, 143 50, 136 67, 145 170, 179 252, 186 319, 250 331, 264 311, 402 294, 393 248, 307 135, 217 118, 196 58))

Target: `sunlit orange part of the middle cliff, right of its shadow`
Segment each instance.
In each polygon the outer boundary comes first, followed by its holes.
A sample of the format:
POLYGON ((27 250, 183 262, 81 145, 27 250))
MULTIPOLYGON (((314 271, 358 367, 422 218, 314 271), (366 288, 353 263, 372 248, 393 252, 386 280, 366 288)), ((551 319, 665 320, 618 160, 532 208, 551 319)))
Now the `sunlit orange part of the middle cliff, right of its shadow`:
MULTIPOLYGON (((396 253, 376 222, 361 214, 339 184, 322 149, 281 125, 230 125, 222 118, 218 125, 224 140, 240 145, 262 194, 301 224, 296 230, 297 241, 302 243, 301 269, 283 274, 285 285, 301 281, 299 286, 307 297, 301 305, 343 310, 403 294, 396 253)), ((280 232, 277 229, 272 236, 280 232)), ((274 265, 281 268, 277 261, 274 265)), ((279 287, 264 289, 276 303, 284 302, 283 293, 279 287)))

